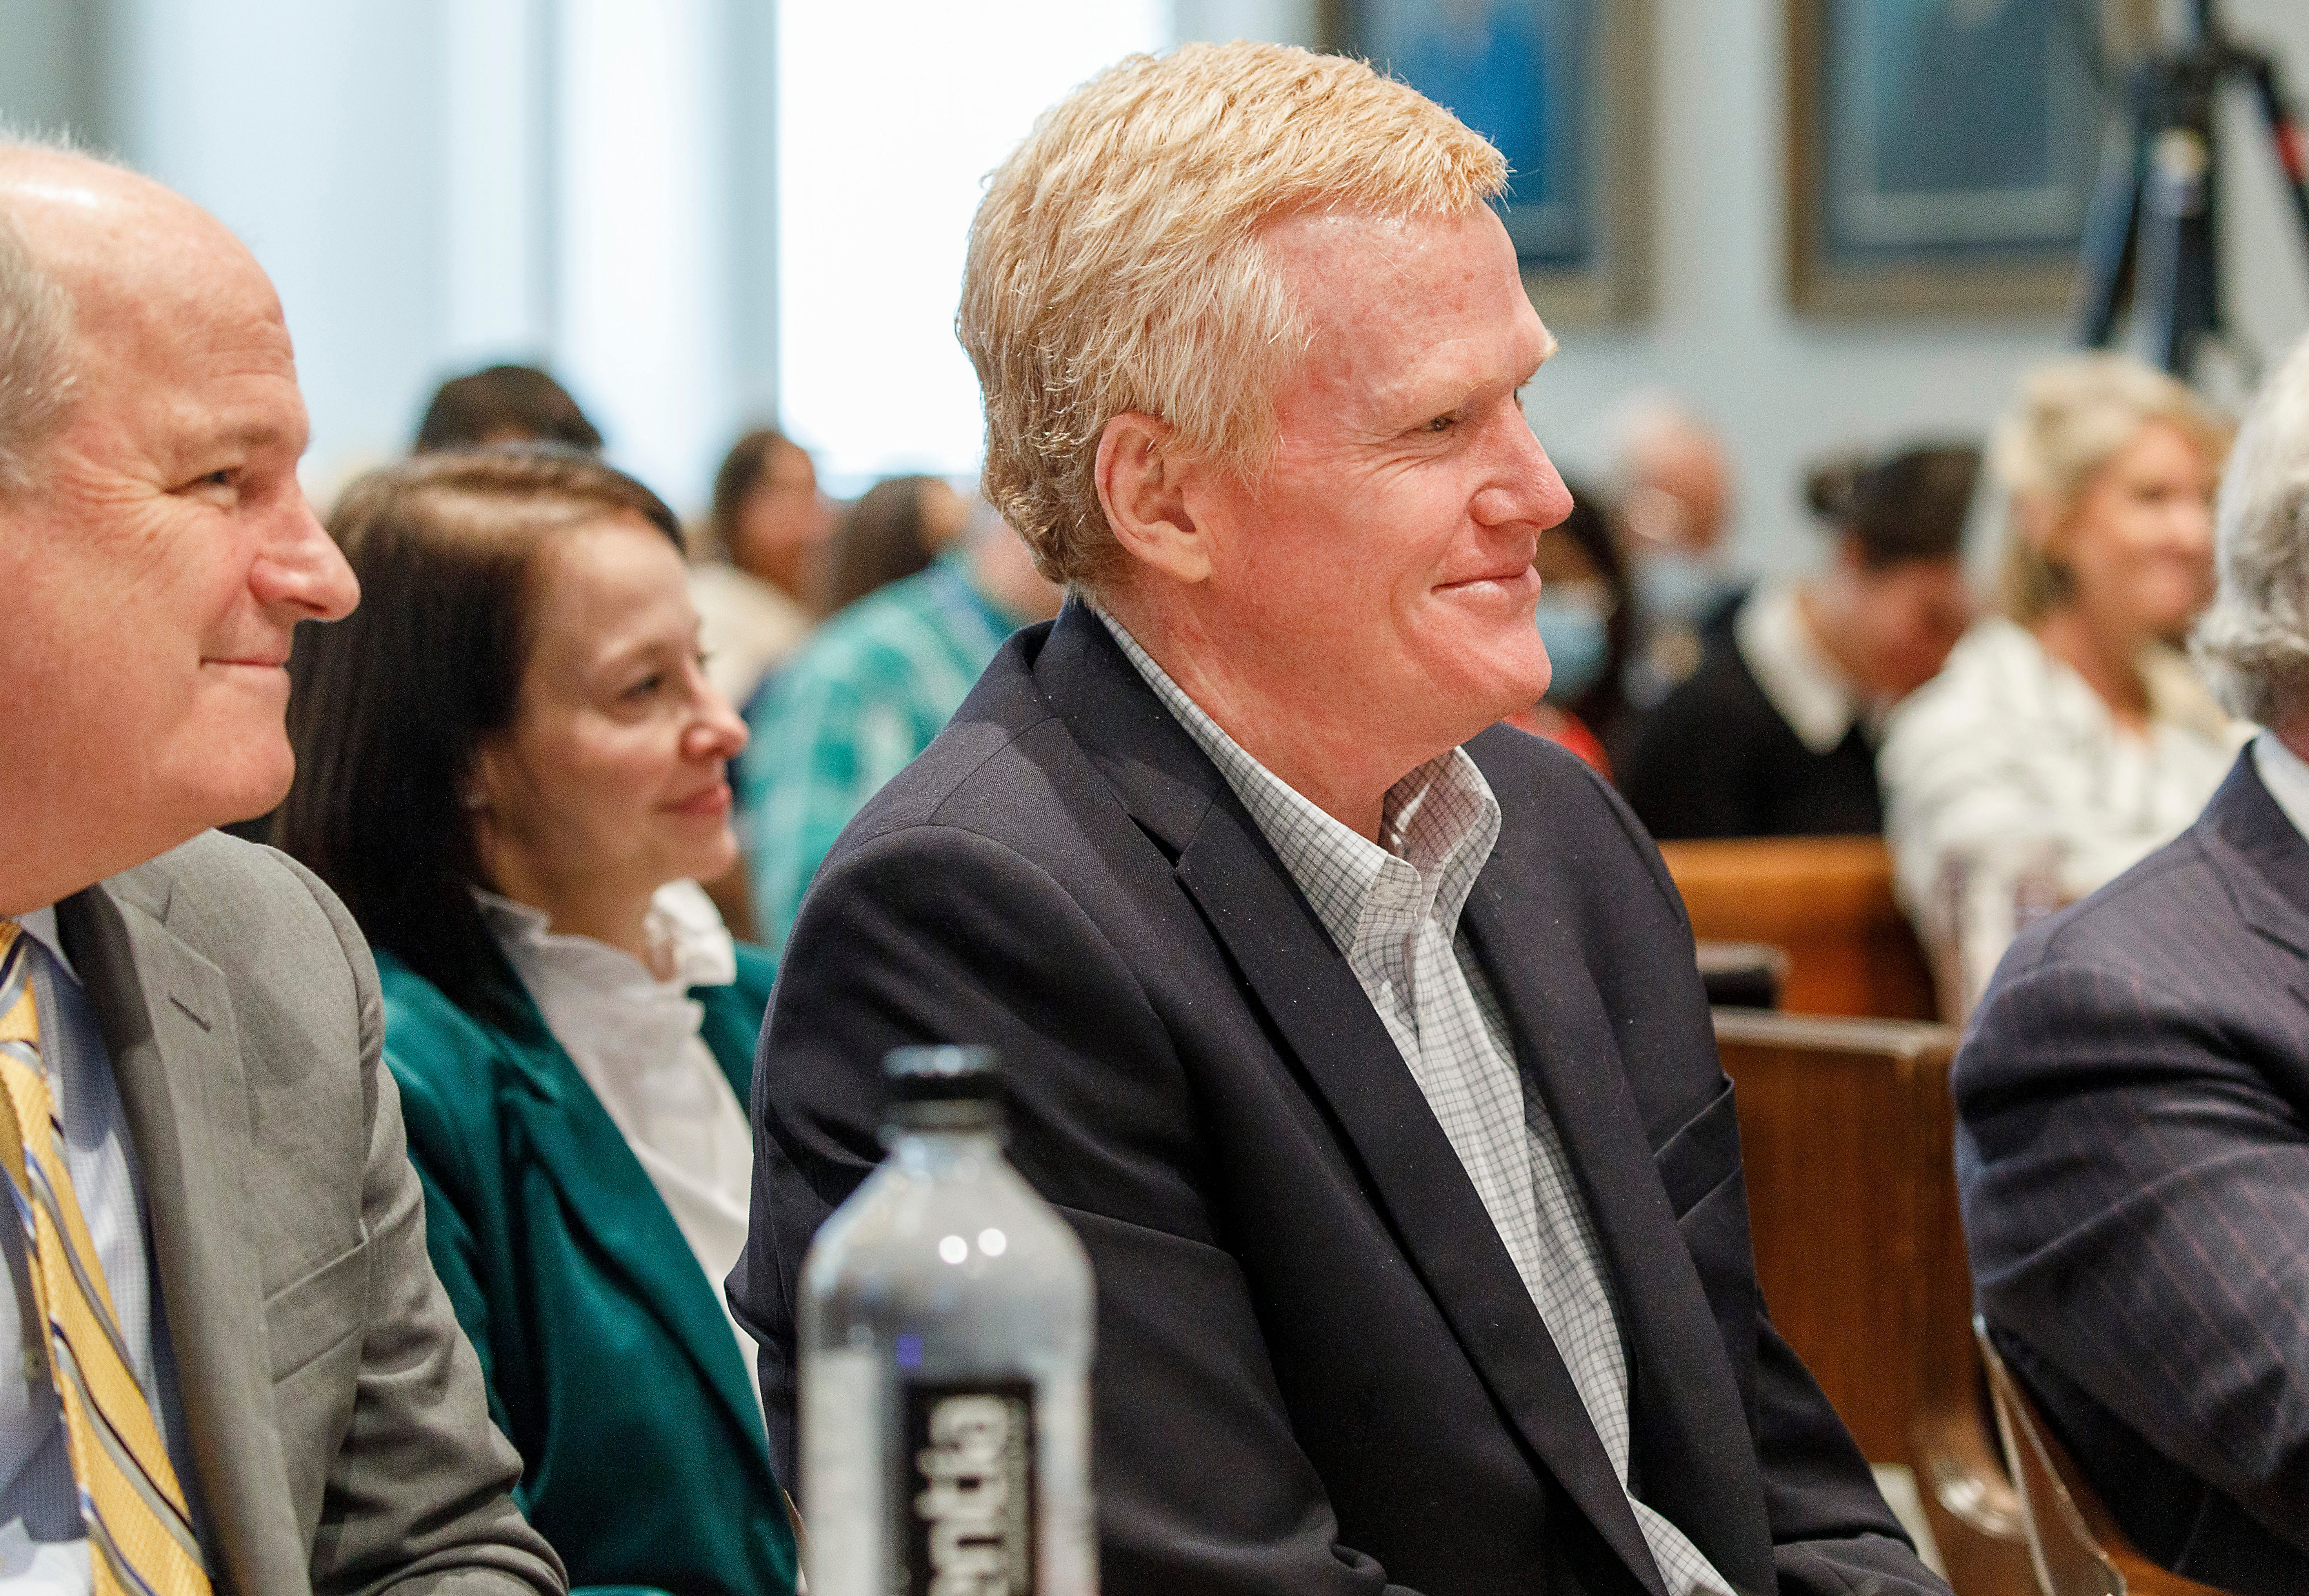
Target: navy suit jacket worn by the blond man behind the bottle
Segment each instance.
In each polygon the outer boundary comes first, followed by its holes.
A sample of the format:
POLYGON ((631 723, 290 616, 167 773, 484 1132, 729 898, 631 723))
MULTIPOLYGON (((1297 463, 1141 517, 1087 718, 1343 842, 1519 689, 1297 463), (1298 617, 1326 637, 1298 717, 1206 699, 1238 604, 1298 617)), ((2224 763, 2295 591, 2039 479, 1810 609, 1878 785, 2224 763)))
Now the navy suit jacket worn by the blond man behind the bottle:
MULTIPOLYGON (((1505 827, 1464 926, 1596 1215, 1635 1490, 1743 1591, 1942 1591, 1764 1317, 1732 1090, 1658 852, 1552 744, 1492 730, 1469 751, 1505 827)), ((1097 1270, 1111 1596, 1660 1596, 1369 998, 1078 605, 1011 637, 861 811, 787 945, 730 1282, 780 1478, 804 1252, 880 1157, 877 1060, 931 1039, 1002 1051, 1011 1157, 1097 1270)))

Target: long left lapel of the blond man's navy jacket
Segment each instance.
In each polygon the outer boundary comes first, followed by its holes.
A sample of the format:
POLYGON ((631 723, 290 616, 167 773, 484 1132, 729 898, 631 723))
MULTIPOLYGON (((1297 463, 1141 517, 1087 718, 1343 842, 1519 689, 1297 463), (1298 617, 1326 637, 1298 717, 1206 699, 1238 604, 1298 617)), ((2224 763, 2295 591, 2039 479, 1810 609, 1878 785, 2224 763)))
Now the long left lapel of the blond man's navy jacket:
POLYGON ((1256 822, 1094 614, 1069 603, 1034 672, 1131 818, 1178 859, 1180 887, 1337 1116, 1365 1189, 1492 1397, 1644 1589, 1665 1596, 1612 1460, 1475 1185, 1256 822))

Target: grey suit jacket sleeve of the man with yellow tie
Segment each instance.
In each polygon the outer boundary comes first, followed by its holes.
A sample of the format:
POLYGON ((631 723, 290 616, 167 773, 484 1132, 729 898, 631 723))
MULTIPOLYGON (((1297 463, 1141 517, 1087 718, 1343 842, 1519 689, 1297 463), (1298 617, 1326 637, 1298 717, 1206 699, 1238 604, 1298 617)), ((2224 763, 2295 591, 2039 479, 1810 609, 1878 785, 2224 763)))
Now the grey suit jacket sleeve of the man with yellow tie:
POLYGON ((425 1196, 383 1062, 376 963, 335 894, 291 868, 328 912, 360 993, 363 1222, 376 1250, 353 1420, 314 1536, 314 1591, 559 1594, 561 1559, 508 1494, 520 1457, 490 1423, 480 1363, 425 1254, 425 1196))

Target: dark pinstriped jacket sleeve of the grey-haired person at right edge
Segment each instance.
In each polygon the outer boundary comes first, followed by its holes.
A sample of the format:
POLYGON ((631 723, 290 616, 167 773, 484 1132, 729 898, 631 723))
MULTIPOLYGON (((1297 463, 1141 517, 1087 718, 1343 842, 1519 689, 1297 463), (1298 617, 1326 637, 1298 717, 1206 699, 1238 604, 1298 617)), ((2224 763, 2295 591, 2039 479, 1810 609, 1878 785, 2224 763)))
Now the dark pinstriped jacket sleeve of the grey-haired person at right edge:
POLYGON ((2247 1028, 2050 949, 1956 1069, 1981 1307, 2309 1547, 2309 1129, 2247 1028))

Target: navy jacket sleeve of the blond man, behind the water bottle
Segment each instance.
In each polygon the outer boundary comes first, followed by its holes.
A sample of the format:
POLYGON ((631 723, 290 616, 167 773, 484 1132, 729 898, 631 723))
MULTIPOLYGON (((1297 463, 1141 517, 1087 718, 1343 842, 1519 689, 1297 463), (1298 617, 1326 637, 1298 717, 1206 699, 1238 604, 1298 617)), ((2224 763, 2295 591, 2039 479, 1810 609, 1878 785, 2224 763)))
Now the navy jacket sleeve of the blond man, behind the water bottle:
POLYGON ((1194 1185, 1187 1086, 1138 975, 1048 873, 958 829, 912 827, 840 855, 778 977, 732 1300, 762 1342, 780 1478, 799 1478, 801 1259, 880 1157, 882 1053, 917 1042, 1000 1049, 1011 1159, 1090 1250, 1106 1591, 1408 1596, 1337 1541, 1247 1282, 1194 1185))

